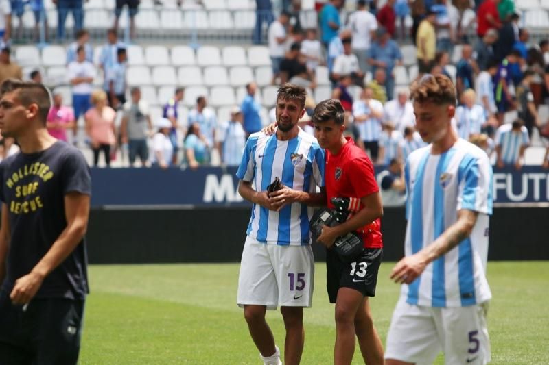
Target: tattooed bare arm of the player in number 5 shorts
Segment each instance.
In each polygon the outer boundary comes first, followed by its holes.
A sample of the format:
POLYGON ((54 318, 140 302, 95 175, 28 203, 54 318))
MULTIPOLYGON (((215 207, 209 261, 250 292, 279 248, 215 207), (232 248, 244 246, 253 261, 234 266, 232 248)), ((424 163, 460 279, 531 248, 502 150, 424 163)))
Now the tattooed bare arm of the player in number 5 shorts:
POLYGON ((399 284, 412 283, 423 273, 425 266, 454 249, 461 241, 471 235, 477 216, 478 213, 472 210, 460 210, 456 223, 448 227, 432 244, 418 253, 400 260, 393 268, 390 278, 399 284))

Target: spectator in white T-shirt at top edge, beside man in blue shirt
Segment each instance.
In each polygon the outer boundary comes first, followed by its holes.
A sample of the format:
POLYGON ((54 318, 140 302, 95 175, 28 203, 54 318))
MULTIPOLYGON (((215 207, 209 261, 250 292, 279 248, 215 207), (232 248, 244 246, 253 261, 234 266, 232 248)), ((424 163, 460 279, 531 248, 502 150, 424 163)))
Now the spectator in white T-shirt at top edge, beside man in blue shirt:
POLYGON ((366 9, 366 1, 357 2, 357 10, 349 16, 347 27, 353 32, 351 47, 358 58, 358 65, 362 71, 366 72, 371 40, 377 29, 377 19, 366 9))

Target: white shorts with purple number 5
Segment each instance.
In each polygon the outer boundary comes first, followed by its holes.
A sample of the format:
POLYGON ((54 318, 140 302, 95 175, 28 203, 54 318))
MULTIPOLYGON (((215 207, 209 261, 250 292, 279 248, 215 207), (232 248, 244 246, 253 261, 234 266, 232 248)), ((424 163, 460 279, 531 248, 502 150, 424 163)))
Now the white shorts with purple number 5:
POLYGON ((399 299, 387 334, 386 359, 432 364, 443 351, 445 364, 491 360, 486 325, 488 302, 468 307, 423 307, 399 299))

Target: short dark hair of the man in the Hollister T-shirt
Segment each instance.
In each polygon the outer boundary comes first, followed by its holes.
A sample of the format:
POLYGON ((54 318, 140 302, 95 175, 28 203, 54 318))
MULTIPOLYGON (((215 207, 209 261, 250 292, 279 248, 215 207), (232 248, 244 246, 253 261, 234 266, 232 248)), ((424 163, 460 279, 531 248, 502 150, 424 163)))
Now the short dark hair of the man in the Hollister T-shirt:
POLYGON ((8 92, 17 92, 17 99, 25 107, 38 105, 38 118, 46 125, 47 114, 51 107, 49 91, 43 84, 34 81, 21 81, 17 79, 7 79, 0 86, 0 93, 4 95, 8 92))

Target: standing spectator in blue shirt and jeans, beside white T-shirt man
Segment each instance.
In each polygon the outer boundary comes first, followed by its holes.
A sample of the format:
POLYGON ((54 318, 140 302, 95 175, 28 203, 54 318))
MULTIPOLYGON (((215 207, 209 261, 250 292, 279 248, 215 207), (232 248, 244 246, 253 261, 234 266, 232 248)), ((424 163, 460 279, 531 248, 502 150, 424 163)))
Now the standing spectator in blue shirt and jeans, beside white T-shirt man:
POLYGON ((392 100, 393 90, 395 89, 393 68, 395 65, 402 64, 402 53, 397 42, 390 38, 390 34, 384 27, 379 27, 377 29, 377 39, 370 47, 368 62, 372 66, 373 74, 375 74, 377 68, 383 68, 385 70, 387 100, 392 100))

